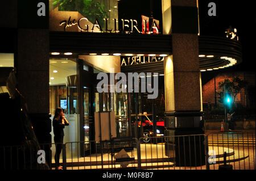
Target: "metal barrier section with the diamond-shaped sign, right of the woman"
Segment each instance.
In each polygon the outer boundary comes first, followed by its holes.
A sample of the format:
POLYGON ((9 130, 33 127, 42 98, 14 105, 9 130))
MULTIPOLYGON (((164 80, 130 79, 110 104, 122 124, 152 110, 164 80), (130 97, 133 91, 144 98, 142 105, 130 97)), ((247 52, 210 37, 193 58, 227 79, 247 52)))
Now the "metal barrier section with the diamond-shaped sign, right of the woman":
POLYGON ((135 168, 135 153, 137 151, 137 139, 115 139, 114 141, 87 141, 87 142, 67 142, 63 145, 63 168, 67 170, 80 169, 122 169, 135 168), (84 150, 84 146, 88 148, 84 150), (71 149, 69 157, 65 150, 71 149), (117 154, 121 150, 119 158, 117 154))

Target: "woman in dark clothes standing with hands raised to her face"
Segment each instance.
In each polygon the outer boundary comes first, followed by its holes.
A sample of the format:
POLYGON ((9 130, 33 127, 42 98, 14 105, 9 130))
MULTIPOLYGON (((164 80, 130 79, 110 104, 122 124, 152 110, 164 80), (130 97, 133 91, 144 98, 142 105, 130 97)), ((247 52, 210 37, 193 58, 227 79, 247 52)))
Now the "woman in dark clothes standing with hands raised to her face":
POLYGON ((63 170, 63 167, 60 166, 60 153, 63 146, 63 138, 64 138, 64 131, 65 125, 68 126, 68 120, 64 117, 63 109, 58 107, 55 110, 55 115, 52 120, 53 126, 53 133, 54 133, 54 142, 56 146, 56 153, 55 153, 55 167, 56 170, 63 170))

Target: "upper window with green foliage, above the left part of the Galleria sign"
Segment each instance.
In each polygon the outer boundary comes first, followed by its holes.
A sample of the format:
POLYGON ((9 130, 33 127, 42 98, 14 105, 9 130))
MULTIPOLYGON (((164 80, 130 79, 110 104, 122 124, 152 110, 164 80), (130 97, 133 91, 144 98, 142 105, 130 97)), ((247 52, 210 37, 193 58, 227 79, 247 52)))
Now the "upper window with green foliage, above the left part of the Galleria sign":
MULTIPOLYGON (((96 19, 98 20, 97 24, 103 28, 105 27, 105 18, 108 18, 108 27, 114 27, 114 20, 118 20, 118 5, 117 0, 50 0, 49 1, 49 12, 50 12, 50 23, 52 24, 50 27, 55 31, 59 31, 59 23, 63 20, 69 19, 71 17, 71 21, 76 19, 77 23, 81 18, 87 18, 87 20, 83 19, 80 22, 81 28, 86 27, 86 24, 89 25, 90 28, 93 27, 93 24, 96 23, 96 19), (78 12, 78 13, 77 13, 78 12)), ((72 23, 71 23, 72 24, 72 23)), ((75 25, 75 24, 74 24, 75 25)), ((64 26, 64 25, 63 25, 64 26)), ((79 24, 76 24, 78 27, 79 24)), ((80 31, 79 28, 73 28, 71 26, 67 27, 65 31, 80 31)), ((63 29, 64 30, 64 29, 63 29)), ((62 31, 63 31, 62 30, 62 31)), ((96 29, 94 29, 94 32, 96 29)))

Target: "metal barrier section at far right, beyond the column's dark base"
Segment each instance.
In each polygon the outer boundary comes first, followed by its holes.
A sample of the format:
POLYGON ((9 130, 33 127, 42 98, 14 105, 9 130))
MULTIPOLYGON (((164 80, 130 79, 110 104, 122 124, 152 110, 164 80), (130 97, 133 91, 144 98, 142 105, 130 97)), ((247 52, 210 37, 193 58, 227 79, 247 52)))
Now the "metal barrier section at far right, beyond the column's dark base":
POLYGON ((213 150, 210 164, 212 170, 226 164, 234 170, 255 170, 255 132, 224 132, 208 134, 208 148, 213 150))

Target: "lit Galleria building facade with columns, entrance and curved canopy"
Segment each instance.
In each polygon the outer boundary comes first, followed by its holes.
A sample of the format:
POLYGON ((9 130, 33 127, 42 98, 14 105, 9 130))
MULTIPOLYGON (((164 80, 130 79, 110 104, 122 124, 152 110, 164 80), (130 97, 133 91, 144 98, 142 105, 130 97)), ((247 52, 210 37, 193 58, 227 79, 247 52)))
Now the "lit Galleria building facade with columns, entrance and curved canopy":
POLYGON ((65 142, 95 140, 94 113, 104 111, 115 113, 119 137, 143 137, 134 126, 143 115, 164 120, 165 136, 203 133, 201 71, 242 60, 238 41, 199 36, 196 0, 61 2, 11 0, 0 12, 0 61, 16 69, 40 143, 53 141, 56 107, 71 122, 65 142), (158 73, 158 97, 97 92, 97 74, 110 68, 158 73))

